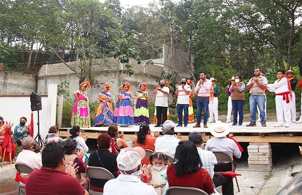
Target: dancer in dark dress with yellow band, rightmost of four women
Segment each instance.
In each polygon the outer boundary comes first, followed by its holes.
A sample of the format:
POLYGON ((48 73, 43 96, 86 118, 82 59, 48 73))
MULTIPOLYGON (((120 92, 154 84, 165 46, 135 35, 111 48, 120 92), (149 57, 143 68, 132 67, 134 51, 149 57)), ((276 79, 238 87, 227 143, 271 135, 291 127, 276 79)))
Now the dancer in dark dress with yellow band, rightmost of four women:
POLYGON ((148 101, 149 98, 148 92, 145 91, 148 86, 147 83, 142 82, 138 85, 139 91, 136 91, 136 106, 134 111, 134 122, 135 125, 140 125, 143 123, 149 124, 149 108, 148 101))

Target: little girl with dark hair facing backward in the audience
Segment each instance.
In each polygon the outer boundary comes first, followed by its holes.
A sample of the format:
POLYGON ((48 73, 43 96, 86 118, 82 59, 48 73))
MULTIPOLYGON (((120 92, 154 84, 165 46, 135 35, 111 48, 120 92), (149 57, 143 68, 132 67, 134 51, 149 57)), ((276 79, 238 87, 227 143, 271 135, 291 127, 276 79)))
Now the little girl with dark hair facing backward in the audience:
POLYGON ((148 182, 152 185, 158 195, 164 192, 166 180, 161 177, 161 173, 168 167, 168 157, 160 152, 155 152, 149 157, 148 182))

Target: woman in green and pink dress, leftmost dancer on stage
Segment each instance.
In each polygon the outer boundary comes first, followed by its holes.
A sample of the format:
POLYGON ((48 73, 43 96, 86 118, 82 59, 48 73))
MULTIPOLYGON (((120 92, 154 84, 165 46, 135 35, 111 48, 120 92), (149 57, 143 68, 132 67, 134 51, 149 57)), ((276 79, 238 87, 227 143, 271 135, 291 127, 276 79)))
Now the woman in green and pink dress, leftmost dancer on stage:
POLYGON ((77 99, 73 106, 73 112, 71 117, 71 127, 78 125, 81 128, 90 127, 90 110, 88 93, 86 90, 90 87, 90 82, 82 82, 80 89, 74 91, 73 96, 77 99))

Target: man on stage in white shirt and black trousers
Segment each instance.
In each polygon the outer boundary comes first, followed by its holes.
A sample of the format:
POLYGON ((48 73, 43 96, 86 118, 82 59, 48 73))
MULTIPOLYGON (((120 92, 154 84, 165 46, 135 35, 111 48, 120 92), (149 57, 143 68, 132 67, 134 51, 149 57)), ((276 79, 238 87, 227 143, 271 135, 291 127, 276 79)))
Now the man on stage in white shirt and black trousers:
POLYGON ((170 92, 169 87, 166 86, 166 81, 162 79, 160 81, 160 86, 156 85, 156 89, 153 90, 155 97, 155 107, 156 107, 156 118, 157 125, 155 127, 162 127, 163 123, 167 120, 168 112, 168 94, 170 92))

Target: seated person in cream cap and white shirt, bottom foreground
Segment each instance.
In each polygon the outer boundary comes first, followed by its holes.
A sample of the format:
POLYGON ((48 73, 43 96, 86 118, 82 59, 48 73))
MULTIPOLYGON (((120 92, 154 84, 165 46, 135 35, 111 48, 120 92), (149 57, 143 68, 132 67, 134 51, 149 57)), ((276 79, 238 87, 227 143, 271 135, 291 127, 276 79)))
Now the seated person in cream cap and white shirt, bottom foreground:
POLYGON ((116 161, 121 174, 105 183, 104 194, 157 195, 152 186, 140 179, 141 157, 137 152, 121 150, 116 161))

